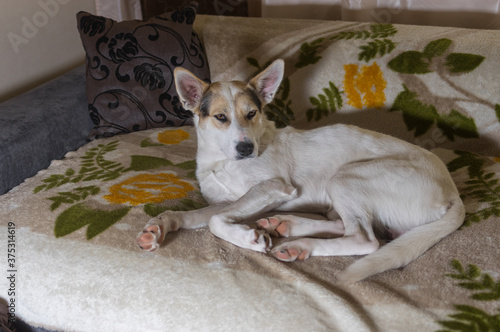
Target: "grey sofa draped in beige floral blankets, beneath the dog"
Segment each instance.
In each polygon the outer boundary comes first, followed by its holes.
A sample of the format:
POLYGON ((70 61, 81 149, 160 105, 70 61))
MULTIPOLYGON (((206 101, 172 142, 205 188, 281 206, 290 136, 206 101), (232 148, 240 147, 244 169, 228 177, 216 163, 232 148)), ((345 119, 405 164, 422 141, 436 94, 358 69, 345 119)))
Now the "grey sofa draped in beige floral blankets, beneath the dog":
POLYGON ((193 56, 184 64, 200 61, 206 80, 248 80, 284 59, 282 86, 265 109, 278 127, 354 124, 432 150, 461 193, 463 226, 406 267, 352 285, 335 275, 357 257, 283 263, 206 227, 142 252, 134 239, 151 217, 206 206, 196 132, 174 92, 154 95, 172 88, 157 63, 125 67, 146 49, 135 43, 168 29, 155 21, 143 39, 132 28, 105 40, 99 34, 116 22, 80 13, 86 64, 0 105, 4 328, 15 316, 51 331, 498 331, 500 32, 195 9, 161 18, 193 27, 182 37, 193 56), (121 45, 106 46, 118 69, 106 71, 100 46, 95 53, 84 41, 90 34, 100 36, 93 45, 121 45), (141 113, 161 121, 121 125, 145 110, 139 99, 115 85, 107 99, 94 91, 106 75, 127 73, 137 84, 129 91, 168 104, 169 114, 141 113))

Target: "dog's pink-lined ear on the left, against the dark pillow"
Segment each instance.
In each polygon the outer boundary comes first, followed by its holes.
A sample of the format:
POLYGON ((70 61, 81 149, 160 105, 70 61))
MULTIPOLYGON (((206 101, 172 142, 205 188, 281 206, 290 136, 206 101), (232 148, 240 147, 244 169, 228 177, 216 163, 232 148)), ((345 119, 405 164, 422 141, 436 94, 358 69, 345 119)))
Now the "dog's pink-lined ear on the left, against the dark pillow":
POLYGON ((189 70, 177 67, 174 70, 175 88, 182 102, 182 106, 188 111, 195 112, 200 106, 203 92, 208 84, 200 80, 189 70))

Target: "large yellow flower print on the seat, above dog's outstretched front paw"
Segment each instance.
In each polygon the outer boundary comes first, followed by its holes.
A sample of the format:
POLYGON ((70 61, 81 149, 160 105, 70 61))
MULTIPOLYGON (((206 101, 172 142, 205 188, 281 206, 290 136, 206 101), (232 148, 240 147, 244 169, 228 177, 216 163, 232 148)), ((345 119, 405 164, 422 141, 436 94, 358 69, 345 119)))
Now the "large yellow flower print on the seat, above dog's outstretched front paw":
POLYGON ((160 203, 186 197, 195 188, 175 174, 139 174, 111 186, 104 198, 114 204, 160 203))

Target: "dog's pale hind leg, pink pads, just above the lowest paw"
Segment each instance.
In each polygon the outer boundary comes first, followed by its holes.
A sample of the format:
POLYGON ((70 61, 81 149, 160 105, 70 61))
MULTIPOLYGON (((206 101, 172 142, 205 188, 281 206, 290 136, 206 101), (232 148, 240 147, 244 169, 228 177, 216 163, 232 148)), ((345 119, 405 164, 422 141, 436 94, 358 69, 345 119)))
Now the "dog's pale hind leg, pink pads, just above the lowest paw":
POLYGON ((276 237, 311 236, 331 238, 344 235, 344 223, 340 218, 322 220, 296 215, 276 215, 258 220, 257 227, 276 237))

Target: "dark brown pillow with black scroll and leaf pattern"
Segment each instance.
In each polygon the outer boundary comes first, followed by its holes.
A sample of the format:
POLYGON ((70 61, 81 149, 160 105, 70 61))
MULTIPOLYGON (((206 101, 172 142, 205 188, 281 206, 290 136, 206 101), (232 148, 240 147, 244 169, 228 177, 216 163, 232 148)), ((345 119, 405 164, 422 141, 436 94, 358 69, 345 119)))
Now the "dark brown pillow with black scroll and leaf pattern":
POLYGON ((192 124, 175 91, 174 68, 210 79, 193 31, 197 3, 148 21, 116 22, 77 14, 86 52, 87 99, 94 123, 90 138, 192 124))

